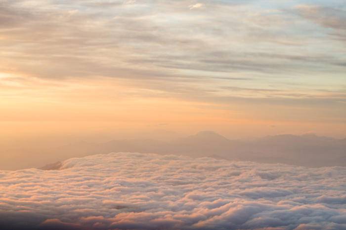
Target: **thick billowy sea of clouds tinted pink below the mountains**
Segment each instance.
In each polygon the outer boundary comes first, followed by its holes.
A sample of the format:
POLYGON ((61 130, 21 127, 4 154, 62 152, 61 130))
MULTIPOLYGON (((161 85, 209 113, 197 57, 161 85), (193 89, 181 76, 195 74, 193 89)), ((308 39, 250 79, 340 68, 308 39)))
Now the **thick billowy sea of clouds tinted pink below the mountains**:
POLYGON ((0 229, 346 230, 346 168, 110 153, 0 171, 0 229))

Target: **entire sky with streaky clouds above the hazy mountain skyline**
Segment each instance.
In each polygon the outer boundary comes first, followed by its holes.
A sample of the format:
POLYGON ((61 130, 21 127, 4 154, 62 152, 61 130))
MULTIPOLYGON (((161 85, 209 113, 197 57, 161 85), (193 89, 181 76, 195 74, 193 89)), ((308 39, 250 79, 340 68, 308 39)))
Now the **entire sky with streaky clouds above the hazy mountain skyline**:
POLYGON ((1 140, 345 137, 344 0, 1 0, 1 140))

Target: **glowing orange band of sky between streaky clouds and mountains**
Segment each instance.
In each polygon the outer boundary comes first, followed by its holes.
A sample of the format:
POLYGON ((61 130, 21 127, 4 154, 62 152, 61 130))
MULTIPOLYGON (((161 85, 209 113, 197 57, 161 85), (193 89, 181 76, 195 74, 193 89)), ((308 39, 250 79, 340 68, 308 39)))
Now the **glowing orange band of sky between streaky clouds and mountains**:
POLYGON ((10 85, 1 91, 6 99, 0 101, 0 133, 7 137, 129 134, 156 129, 183 134, 215 130, 229 138, 308 132, 343 137, 346 127, 342 117, 333 116, 328 107, 314 105, 249 98, 203 101, 108 78, 63 83, 21 81, 12 76, 2 79, 10 85))

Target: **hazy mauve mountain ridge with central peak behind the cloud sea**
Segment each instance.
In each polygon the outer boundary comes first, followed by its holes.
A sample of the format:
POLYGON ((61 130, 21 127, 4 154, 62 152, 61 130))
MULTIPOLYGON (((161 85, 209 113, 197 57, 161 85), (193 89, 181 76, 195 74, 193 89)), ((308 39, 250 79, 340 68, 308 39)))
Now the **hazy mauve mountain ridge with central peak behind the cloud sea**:
POLYGON ((309 167, 346 166, 346 139, 315 134, 283 134, 244 141, 229 140, 213 131, 202 131, 171 142, 151 139, 113 140, 100 144, 80 142, 60 147, 57 152, 60 157, 58 160, 99 153, 138 152, 211 156, 309 167))

